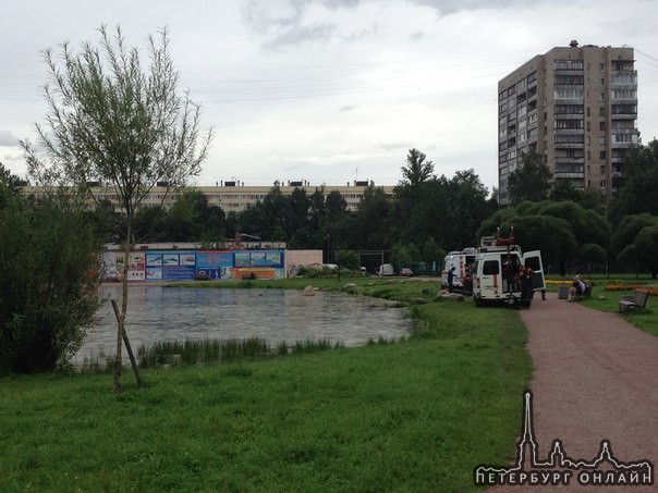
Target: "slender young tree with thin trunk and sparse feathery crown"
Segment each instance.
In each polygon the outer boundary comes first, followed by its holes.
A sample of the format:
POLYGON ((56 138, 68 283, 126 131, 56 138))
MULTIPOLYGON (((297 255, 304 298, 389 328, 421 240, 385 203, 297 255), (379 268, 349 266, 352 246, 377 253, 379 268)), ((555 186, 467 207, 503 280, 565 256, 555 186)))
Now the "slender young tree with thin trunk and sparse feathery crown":
POLYGON ((158 183, 169 190, 199 173, 212 132, 200 136, 200 107, 187 93, 179 94, 167 29, 149 36, 150 63, 144 67, 139 50, 126 46, 120 27, 110 34, 101 26, 99 34, 99 46, 85 42, 80 53, 68 44, 59 56, 44 51, 49 111, 46 125, 36 128, 46 156, 38 156, 31 143, 22 144, 38 182, 78 187, 100 182, 121 205, 126 242, 113 375, 118 392, 135 214, 158 183))

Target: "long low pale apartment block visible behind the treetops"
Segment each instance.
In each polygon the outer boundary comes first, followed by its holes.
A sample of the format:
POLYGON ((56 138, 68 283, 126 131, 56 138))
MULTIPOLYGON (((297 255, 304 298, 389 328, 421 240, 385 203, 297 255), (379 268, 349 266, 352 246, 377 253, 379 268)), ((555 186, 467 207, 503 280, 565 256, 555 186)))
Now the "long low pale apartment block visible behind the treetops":
MULTIPOLYGON (((363 199, 365 190, 368 186, 377 186, 373 182, 353 182, 352 184, 346 183, 345 185, 310 185, 308 182, 288 182, 287 184, 279 185, 279 189, 285 196, 292 195, 295 188, 306 190, 306 194, 312 195, 316 189, 324 189, 325 196, 331 192, 338 192, 341 197, 348 204, 348 210, 356 210, 358 204, 363 199)), ((240 212, 253 206, 258 201, 263 201, 265 197, 271 192, 272 186, 252 186, 245 185, 243 182, 222 182, 216 186, 191 186, 186 189, 199 190, 206 197, 208 197, 208 205, 219 206, 224 212, 240 212)), ((388 197, 393 197, 393 185, 377 186, 383 189, 383 193, 388 197)), ((101 186, 100 184, 92 184, 90 190, 94 196, 99 200, 109 200, 117 208, 119 208, 119 201, 115 192, 111 187, 101 186)), ((156 186, 150 190, 150 194, 146 197, 143 202, 144 207, 160 206, 163 202, 163 198, 168 192, 166 184, 162 186, 156 186)), ((28 195, 40 195, 42 188, 36 186, 23 187, 23 193, 28 195)), ((170 193, 167 204, 171 204, 175 200, 175 197, 181 192, 170 193)))

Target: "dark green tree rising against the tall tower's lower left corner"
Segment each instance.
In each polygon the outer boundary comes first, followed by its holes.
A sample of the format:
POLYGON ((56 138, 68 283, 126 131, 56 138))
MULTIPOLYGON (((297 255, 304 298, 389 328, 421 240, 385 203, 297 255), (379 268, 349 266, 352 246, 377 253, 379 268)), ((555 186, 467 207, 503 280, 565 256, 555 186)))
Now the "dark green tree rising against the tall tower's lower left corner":
POLYGON ((521 158, 521 165, 510 173, 508 193, 512 205, 523 200, 540 201, 548 198, 551 173, 535 151, 521 158))

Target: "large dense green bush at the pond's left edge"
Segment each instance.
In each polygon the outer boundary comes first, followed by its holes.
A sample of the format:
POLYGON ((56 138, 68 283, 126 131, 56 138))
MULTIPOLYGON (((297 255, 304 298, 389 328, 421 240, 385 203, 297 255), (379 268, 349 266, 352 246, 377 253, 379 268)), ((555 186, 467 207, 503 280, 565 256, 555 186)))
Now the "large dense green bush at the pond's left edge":
POLYGON ((94 323, 100 245, 68 198, 0 210, 0 370, 66 365, 94 323))

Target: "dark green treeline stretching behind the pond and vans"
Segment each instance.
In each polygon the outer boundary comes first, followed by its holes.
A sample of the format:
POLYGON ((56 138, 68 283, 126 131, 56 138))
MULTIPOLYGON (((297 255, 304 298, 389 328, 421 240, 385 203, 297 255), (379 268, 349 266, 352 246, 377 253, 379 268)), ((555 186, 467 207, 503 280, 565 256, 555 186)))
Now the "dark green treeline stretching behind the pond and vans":
MULTIPOLYGON (((429 273, 447 251, 477 246, 482 235, 513 227, 525 250, 543 251, 551 273, 611 268, 656 275, 658 141, 631 153, 609 204, 595 189, 551 182, 536 153, 525 155, 523 162, 510 175, 512 205, 507 208, 499 208, 496 190, 490 194, 474 170, 438 176, 434 163, 411 149, 394 197, 370 186, 355 211, 348 210, 338 192, 322 187, 295 188, 287 196, 275 185, 264 200, 228 214, 210 206, 203 193, 190 190, 169 209, 139 210, 136 238, 221 248, 239 232, 285 242, 290 249, 321 249, 330 263, 345 251, 386 250, 387 261, 397 268, 424 264, 429 273)), ((111 205, 99 205, 93 218, 107 242, 123 239, 121 218, 111 205)), ((368 270, 380 261, 376 256, 362 259, 368 270)))

